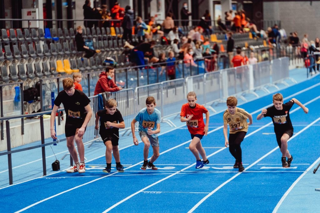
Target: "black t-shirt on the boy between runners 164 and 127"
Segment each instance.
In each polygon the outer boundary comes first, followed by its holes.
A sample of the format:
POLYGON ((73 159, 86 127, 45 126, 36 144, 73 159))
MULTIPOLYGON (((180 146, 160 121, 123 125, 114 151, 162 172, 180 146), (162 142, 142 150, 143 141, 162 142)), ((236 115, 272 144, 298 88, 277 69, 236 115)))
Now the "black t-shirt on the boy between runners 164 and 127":
POLYGON ((119 135, 119 129, 115 127, 107 127, 106 122, 111 122, 111 123, 120 123, 123 122, 122 115, 118 109, 116 109, 116 112, 114 114, 107 114, 107 110, 99 110, 97 114, 100 116, 100 130, 99 134, 116 134, 117 136, 119 135))

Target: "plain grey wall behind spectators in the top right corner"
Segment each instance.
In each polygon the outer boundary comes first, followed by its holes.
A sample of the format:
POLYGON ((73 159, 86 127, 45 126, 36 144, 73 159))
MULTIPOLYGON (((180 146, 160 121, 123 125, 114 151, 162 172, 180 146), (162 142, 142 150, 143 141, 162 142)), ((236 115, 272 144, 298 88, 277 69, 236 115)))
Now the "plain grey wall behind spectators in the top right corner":
MULTIPOLYGON (((281 20, 281 26, 287 35, 297 31, 300 39, 304 34, 309 35, 309 41, 319 37, 320 28, 320 2, 312 1, 286 1, 286 2, 264 2, 263 19, 281 20)), ((271 27, 271 26, 270 26, 271 27)))

